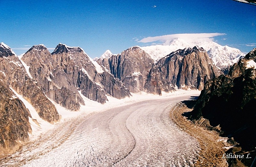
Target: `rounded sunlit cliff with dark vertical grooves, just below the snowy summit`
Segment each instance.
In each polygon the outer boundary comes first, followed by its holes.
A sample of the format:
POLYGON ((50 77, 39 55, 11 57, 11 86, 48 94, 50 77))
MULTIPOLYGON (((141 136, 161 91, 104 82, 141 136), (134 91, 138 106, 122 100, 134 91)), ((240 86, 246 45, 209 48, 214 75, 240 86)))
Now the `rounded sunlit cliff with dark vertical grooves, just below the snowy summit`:
POLYGON ((148 74, 145 88, 156 94, 172 91, 175 87, 202 90, 207 80, 219 75, 203 48, 179 49, 156 63, 148 74))

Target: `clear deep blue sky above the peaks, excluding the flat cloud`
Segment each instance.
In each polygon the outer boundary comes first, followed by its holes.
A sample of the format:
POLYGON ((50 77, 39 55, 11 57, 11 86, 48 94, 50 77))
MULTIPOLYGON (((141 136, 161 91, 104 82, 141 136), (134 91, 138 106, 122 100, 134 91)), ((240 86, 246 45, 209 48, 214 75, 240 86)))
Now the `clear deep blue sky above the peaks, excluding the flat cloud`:
POLYGON ((177 33, 225 33, 214 41, 242 52, 256 47, 256 6, 232 0, 0 0, 0 11, 0 42, 17 55, 32 45, 52 52, 64 43, 94 58, 107 49, 117 54, 146 46, 137 42, 145 37, 177 33))

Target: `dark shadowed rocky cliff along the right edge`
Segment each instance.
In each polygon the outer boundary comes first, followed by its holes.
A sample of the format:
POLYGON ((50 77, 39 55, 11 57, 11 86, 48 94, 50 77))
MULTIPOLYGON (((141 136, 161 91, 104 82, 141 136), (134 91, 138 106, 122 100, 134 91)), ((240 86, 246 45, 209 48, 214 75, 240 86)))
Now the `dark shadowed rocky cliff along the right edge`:
POLYGON ((208 127, 220 127, 220 134, 233 137, 239 143, 228 150, 233 154, 250 154, 252 158, 228 159, 231 165, 241 162, 250 166, 256 147, 256 48, 235 63, 229 75, 221 75, 208 81, 201 92, 189 119, 202 123, 209 120, 208 127))

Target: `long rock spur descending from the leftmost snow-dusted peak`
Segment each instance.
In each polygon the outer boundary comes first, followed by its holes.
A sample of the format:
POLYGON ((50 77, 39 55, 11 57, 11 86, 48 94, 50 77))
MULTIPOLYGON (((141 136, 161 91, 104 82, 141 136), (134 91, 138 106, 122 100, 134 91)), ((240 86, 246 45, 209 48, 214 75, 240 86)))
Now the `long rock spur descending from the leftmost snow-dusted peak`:
MULTIPOLYGON (((8 53, 9 50, 11 50, 10 47, 0 44, 1 53, 5 51, 8 53)), ((4 74, 4 82, 30 102, 43 120, 50 123, 59 121, 60 115, 55 106, 44 95, 37 81, 30 78, 26 68, 12 50, 9 55, 1 55, 0 71, 4 74)))

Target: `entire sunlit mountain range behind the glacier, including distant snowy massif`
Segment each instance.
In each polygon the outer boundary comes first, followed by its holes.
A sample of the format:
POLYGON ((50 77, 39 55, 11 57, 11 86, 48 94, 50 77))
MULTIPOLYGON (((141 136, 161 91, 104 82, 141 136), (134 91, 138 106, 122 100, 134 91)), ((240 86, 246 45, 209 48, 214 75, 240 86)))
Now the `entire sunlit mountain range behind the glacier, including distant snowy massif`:
MULTIPOLYGON (((172 48, 178 41, 181 40, 173 40, 168 46, 151 46, 151 49, 172 48)), ((185 46, 184 41, 181 42, 185 46)), ((61 43, 52 53, 41 44, 21 56, 1 43, 0 153, 11 152, 29 141, 30 124, 37 122, 18 96, 35 108, 40 119, 53 124, 61 115, 52 102, 70 111, 79 111, 81 105, 86 105, 83 97, 104 104, 108 96, 121 99, 140 91, 161 95, 163 91, 176 89, 202 90, 208 80, 222 74, 220 68, 224 65, 216 67, 221 63, 218 62, 222 60, 220 55, 225 53, 227 65, 243 56, 236 49, 232 54, 229 47, 223 47, 226 52, 222 52, 221 46, 207 50, 200 46, 169 52, 166 49, 166 55, 161 49, 153 53, 146 48, 149 47, 130 47, 115 55, 107 51, 95 59, 96 62, 82 48, 61 43), (209 53, 216 54, 211 58, 213 54, 209 53)))

